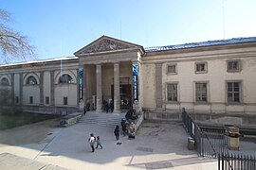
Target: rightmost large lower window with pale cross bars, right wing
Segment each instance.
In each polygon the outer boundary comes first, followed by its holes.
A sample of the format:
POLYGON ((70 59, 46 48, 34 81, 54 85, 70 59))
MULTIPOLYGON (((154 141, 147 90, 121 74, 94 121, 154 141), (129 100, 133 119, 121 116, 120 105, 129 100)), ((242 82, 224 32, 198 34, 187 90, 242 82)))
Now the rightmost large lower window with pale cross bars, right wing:
POLYGON ((228 102, 241 102, 241 82, 228 82, 228 102))

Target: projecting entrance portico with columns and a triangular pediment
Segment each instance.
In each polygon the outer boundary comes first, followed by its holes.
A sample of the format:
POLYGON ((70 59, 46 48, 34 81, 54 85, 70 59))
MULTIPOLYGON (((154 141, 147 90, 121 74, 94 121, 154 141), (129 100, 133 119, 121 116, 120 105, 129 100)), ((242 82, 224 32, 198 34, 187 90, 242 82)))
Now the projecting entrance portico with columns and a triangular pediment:
POLYGON ((100 112, 105 102, 113 102, 114 112, 130 107, 141 110, 141 97, 138 83, 136 86, 134 83, 133 65, 139 67, 143 53, 140 45, 106 36, 77 51, 75 55, 79 57, 79 65, 83 69, 84 105, 90 103, 100 112))

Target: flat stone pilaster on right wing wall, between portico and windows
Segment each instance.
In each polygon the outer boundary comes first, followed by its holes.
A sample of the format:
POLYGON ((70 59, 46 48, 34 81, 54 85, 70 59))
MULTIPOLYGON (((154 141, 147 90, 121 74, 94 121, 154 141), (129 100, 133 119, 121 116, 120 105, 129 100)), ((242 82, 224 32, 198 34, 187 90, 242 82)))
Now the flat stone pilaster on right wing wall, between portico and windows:
POLYGON ((162 110, 162 63, 155 64, 155 79, 156 79, 156 110, 162 110))

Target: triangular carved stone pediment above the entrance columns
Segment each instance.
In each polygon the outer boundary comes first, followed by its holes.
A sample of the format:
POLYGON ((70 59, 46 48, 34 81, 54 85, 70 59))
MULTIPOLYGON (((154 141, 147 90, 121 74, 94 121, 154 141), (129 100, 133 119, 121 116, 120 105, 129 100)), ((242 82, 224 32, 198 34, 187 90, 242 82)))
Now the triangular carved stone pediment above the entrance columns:
POLYGON ((135 43, 124 42, 111 37, 102 36, 100 39, 84 46, 82 49, 75 52, 74 54, 75 56, 79 56, 82 54, 111 52, 111 51, 125 50, 125 49, 131 49, 131 48, 143 49, 142 46, 137 45, 135 43))

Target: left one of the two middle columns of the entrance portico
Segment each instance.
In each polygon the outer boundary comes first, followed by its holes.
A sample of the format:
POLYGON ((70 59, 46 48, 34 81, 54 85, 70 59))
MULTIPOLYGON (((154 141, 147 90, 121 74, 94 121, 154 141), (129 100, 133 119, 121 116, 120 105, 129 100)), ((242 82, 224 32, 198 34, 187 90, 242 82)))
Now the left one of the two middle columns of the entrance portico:
POLYGON ((96 110, 102 111, 102 82, 101 82, 101 64, 96 65, 96 110))

